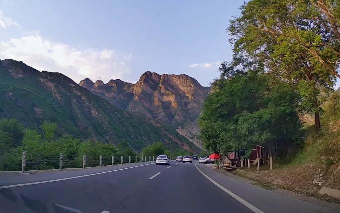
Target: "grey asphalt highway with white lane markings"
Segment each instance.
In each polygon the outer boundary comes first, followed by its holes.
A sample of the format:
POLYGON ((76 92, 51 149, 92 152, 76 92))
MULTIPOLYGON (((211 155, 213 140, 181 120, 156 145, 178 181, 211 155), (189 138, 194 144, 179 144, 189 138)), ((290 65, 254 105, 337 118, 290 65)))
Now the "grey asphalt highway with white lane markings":
POLYGON ((340 212, 205 165, 154 163, 0 176, 0 213, 340 212), (106 212, 105 212, 106 211, 106 212))

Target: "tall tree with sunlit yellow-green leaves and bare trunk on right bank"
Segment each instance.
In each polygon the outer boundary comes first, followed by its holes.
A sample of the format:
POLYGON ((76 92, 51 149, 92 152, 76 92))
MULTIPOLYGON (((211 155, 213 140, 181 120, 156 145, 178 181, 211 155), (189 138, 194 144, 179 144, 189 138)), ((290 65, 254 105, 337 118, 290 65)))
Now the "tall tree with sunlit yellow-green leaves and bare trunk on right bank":
POLYGON ((339 74, 339 2, 252 0, 231 20, 235 58, 248 57, 300 92, 301 109, 320 125, 321 89, 332 90, 339 74))

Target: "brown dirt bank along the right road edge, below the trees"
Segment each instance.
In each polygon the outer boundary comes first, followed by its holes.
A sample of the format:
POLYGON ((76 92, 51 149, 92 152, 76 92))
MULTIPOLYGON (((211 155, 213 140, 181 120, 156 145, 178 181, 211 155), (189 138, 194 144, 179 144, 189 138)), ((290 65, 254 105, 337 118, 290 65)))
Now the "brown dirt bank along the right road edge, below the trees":
POLYGON ((272 187, 340 203, 340 198, 319 194, 323 186, 340 190, 340 163, 328 168, 323 164, 309 163, 294 167, 274 168, 271 171, 268 166, 261 166, 258 173, 256 167, 239 168, 231 173, 272 187))

